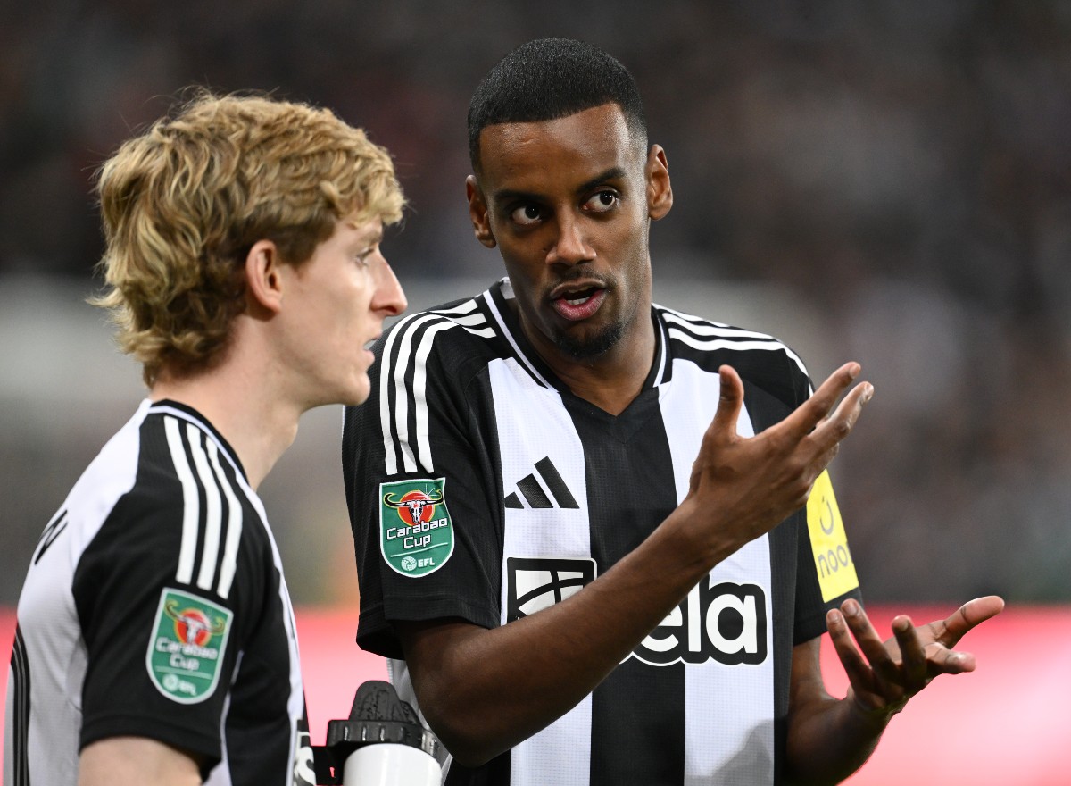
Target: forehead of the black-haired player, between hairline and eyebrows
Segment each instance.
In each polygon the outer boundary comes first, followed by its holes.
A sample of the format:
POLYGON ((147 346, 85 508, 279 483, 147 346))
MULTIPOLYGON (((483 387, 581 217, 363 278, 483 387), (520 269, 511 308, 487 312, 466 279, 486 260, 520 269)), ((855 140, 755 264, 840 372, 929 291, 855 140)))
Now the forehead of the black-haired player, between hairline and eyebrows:
POLYGON ((569 190, 615 168, 642 173, 644 152, 617 104, 554 120, 497 123, 480 132, 480 183, 492 197, 569 190))

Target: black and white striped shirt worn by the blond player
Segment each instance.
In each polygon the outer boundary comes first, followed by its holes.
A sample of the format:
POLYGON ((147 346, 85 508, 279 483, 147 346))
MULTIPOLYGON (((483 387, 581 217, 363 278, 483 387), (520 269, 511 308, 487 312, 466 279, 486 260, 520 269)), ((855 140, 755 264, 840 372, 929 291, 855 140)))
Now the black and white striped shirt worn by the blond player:
POLYGON ((78 777, 81 747, 147 737, 210 784, 314 783, 293 611, 226 441, 142 402, 45 528, 18 602, 5 786, 78 777))

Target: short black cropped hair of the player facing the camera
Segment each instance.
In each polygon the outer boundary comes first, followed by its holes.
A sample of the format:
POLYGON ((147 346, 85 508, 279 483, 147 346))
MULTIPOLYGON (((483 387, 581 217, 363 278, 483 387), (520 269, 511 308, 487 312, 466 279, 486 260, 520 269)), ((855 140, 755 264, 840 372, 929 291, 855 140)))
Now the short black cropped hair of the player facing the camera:
POLYGON ((469 158, 480 166, 480 132, 496 123, 542 122, 604 104, 621 107, 629 131, 647 147, 639 88, 629 70, 598 46, 572 39, 522 44, 493 68, 469 102, 469 158))

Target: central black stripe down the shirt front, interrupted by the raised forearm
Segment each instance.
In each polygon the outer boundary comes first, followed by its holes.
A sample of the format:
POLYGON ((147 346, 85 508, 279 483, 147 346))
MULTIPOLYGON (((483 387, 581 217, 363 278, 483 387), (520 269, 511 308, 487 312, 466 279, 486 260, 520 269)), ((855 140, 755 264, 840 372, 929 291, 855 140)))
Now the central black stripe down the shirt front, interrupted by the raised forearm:
MULTIPOLYGON (((572 398, 567 407, 584 444, 591 555, 602 575, 677 506, 669 443, 657 389, 616 418, 572 398)), ((683 664, 625 661, 592 694, 591 786, 683 783, 684 731, 683 664)))

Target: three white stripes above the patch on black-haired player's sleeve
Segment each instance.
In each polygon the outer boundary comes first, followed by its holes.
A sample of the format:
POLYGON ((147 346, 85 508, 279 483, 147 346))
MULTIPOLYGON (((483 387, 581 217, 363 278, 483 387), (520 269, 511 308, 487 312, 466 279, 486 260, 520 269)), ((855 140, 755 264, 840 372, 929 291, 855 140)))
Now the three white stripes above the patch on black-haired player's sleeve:
POLYGON ((483 314, 477 312, 477 301, 467 300, 452 309, 440 309, 429 311, 424 314, 413 314, 398 324, 393 330, 387 344, 383 346, 383 358, 390 358, 395 341, 401 341, 397 353, 397 366, 394 373, 388 373, 384 368, 379 377, 379 418, 383 432, 383 453, 388 474, 394 475, 398 472, 397 455, 395 450, 394 438, 391 435, 391 422, 393 421, 397 432, 397 448, 402 450, 403 466, 405 472, 416 472, 418 466, 417 456, 420 457, 420 465, 426 472, 433 472, 432 448, 427 439, 427 374, 425 372, 427 356, 432 352, 432 344, 435 336, 442 330, 461 327, 469 332, 491 338, 495 335, 494 329, 484 328, 487 324, 483 314), (476 312, 476 313, 473 313, 476 312), (446 317, 443 320, 443 317, 446 317), (413 335, 421 325, 429 322, 442 320, 439 324, 429 328, 421 338, 416 356, 412 353, 413 335), (484 328, 484 329, 480 329, 484 328), (402 337, 401 339, 398 337, 402 337), (413 361, 413 401, 412 406, 417 419, 417 454, 413 454, 409 440, 409 397, 406 392, 405 376, 409 370, 409 362, 413 361), (390 381, 394 381, 395 401, 394 409, 390 405, 390 381))

